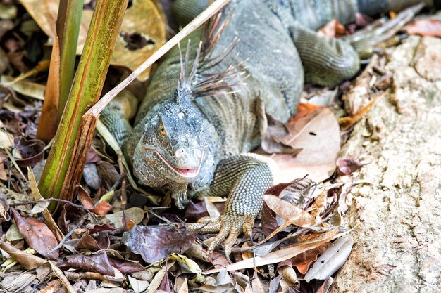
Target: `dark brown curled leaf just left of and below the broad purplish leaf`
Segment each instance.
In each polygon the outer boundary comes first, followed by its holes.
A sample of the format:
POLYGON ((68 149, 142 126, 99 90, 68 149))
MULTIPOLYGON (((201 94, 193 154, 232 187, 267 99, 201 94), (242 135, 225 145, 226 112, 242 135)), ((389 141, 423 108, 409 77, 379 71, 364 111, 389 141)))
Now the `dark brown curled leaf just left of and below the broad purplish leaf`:
POLYGON ((114 270, 108 256, 104 252, 97 252, 92 255, 75 254, 68 256, 60 268, 81 268, 88 272, 102 273, 103 275, 113 275, 114 270))

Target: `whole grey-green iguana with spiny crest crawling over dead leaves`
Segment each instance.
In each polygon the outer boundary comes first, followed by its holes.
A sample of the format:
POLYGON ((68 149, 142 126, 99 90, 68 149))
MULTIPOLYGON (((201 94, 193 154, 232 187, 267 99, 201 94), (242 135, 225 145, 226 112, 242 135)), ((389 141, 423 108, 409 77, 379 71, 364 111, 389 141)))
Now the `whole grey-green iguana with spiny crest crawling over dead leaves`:
MULTIPOLYGON (((232 0, 223 17, 183 41, 187 50, 166 54, 133 129, 126 106, 135 98, 128 92, 113 100, 101 120, 123 145, 139 182, 170 193, 178 207, 190 193, 228 196, 220 219, 190 226, 218 232, 208 253, 225 240, 228 255, 242 231, 251 236, 262 195, 273 183, 271 161, 248 153, 261 143, 265 113, 286 122, 305 81, 335 86, 359 71, 359 56, 347 41, 314 30, 333 18, 347 24, 356 12, 373 16, 419 2, 232 0)), ((207 3, 175 1, 176 19, 184 25, 207 3)))

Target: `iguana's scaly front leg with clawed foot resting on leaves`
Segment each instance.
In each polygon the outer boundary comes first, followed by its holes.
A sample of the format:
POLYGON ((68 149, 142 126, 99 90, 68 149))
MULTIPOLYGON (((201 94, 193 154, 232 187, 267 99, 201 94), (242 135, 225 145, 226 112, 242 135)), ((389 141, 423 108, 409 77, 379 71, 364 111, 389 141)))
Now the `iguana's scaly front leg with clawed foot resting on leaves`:
POLYGON ((254 219, 262 208, 262 195, 273 184, 274 165, 271 159, 256 154, 235 155, 219 162, 209 195, 228 195, 225 213, 219 219, 202 218, 189 227, 201 228, 201 233, 218 232, 209 254, 225 240, 228 256, 240 233, 251 237, 254 219))

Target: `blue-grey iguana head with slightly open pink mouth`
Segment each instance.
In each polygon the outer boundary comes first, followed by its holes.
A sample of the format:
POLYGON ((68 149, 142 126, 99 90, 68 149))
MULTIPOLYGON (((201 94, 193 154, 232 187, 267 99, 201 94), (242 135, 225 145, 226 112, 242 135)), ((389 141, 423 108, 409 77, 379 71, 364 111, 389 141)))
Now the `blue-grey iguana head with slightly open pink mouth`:
POLYGON ((133 156, 135 176, 145 185, 170 191, 183 207, 187 185, 204 176, 201 165, 211 159, 207 148, 204 117, 193 105, 191 91, 178 88, 145 125, 133 156))

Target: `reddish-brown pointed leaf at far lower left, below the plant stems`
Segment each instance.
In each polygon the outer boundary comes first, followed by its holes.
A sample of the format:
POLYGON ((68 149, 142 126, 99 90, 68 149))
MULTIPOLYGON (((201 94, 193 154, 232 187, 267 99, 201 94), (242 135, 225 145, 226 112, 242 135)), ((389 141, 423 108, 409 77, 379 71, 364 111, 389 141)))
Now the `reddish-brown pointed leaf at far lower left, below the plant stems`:
POLYGON ((57 260, 58 249, 54 252, 50 251, 58 245, 58 242, 46 224, 34 218, 23 218, 15 209, 11 208, 11 211, 14 214, 15 224, 20 230, 20 234, 25 238, 27 245, 48 259, 57 260))

